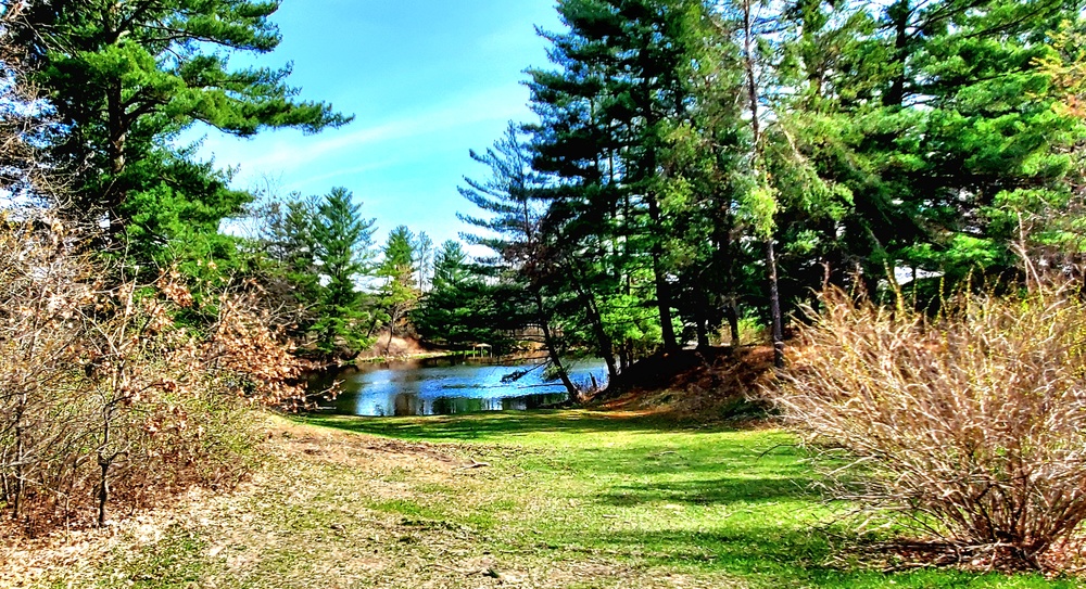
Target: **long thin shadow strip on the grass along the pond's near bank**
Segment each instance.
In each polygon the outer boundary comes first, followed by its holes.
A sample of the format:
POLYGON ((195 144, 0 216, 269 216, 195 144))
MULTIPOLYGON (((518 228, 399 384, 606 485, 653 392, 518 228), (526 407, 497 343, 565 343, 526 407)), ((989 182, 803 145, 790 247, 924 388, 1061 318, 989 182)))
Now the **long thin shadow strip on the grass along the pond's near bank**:
POLYGON ((592 411, 505 411, 435 415, 427 418, 357 418, 306 415, 305 423, 401 439, 431 441, 478 441, 514 438, 539 433, 592 434, 603 432, 682 431, 719 432, 718 426, 699 426, 659 417, 617 417, 592 411))

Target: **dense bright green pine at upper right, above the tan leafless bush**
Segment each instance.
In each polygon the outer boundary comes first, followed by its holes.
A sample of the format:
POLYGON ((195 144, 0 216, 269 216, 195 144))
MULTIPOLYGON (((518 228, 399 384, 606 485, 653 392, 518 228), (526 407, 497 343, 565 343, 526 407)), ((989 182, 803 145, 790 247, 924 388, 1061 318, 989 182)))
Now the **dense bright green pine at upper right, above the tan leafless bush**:
POLYGON ((1041 64, 1077 11, 1056 0, 791 7, 784 85, 799 91, 781 118, 818 176, 851 197, 819 231, 835 281, 859 268, 873 292, 905 266, 952 285, 1014 266, 1020 219, 1070 194, 1081 126, 1053 110, 1041 64))

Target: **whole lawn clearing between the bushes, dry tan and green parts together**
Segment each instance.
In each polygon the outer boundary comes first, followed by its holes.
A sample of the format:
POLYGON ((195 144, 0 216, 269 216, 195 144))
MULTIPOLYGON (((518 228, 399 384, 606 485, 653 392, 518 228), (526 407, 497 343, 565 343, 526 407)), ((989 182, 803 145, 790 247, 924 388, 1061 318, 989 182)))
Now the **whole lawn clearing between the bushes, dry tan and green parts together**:
MULTIPOLYGON (((883 573, 774 430, 590 411, 273 423, 252 485, 46 587, 1078 587, 883 573), (863 558, 857 554, 867 554, 863 558)), ((843 511, 838 507, 836 511, 843 511)), ((141 536, 142 534, 142 536, 141 536)))

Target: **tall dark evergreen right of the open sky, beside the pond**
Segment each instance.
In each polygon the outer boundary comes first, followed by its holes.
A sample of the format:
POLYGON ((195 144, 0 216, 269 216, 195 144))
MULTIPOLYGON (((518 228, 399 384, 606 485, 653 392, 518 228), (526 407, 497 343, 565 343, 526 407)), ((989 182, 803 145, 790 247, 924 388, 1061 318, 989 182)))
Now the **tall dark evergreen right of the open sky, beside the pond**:
MULTIPOLYGON (((542 119, 536 166, 563 180, 553 191, 559 202, 552 218, 566 233, 564 243, 580 242, 590 254, 611 258, 605 264, 628 283, 627 295, 647 295, 664 348, 673 350, 677 260, 669 249, 685 184, 668 161, 677 128, 691 116, 691 73, 705 65, 704 7, 567 0, 558 11, 569 30, 546 38, 559 69, 530 71, 529 84, 542 119), (632 283, 644 265, 652 270, 647 289, 632 283)), ((595 282, 592 268, 585 271, 595 282)))

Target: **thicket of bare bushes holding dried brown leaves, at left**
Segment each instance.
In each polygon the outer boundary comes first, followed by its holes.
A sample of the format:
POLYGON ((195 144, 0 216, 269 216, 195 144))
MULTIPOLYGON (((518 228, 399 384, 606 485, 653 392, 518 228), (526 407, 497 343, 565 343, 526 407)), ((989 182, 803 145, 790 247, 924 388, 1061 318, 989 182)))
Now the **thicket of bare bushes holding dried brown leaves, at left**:
POLYGON ((81 241, 43 216, 0 222, 0 509, 28 530, 236 482, 248 408, 304 400, 257 293, 224 292, 195 332, 175 320, 192 304, 176 271, 137 284, 81 241))

